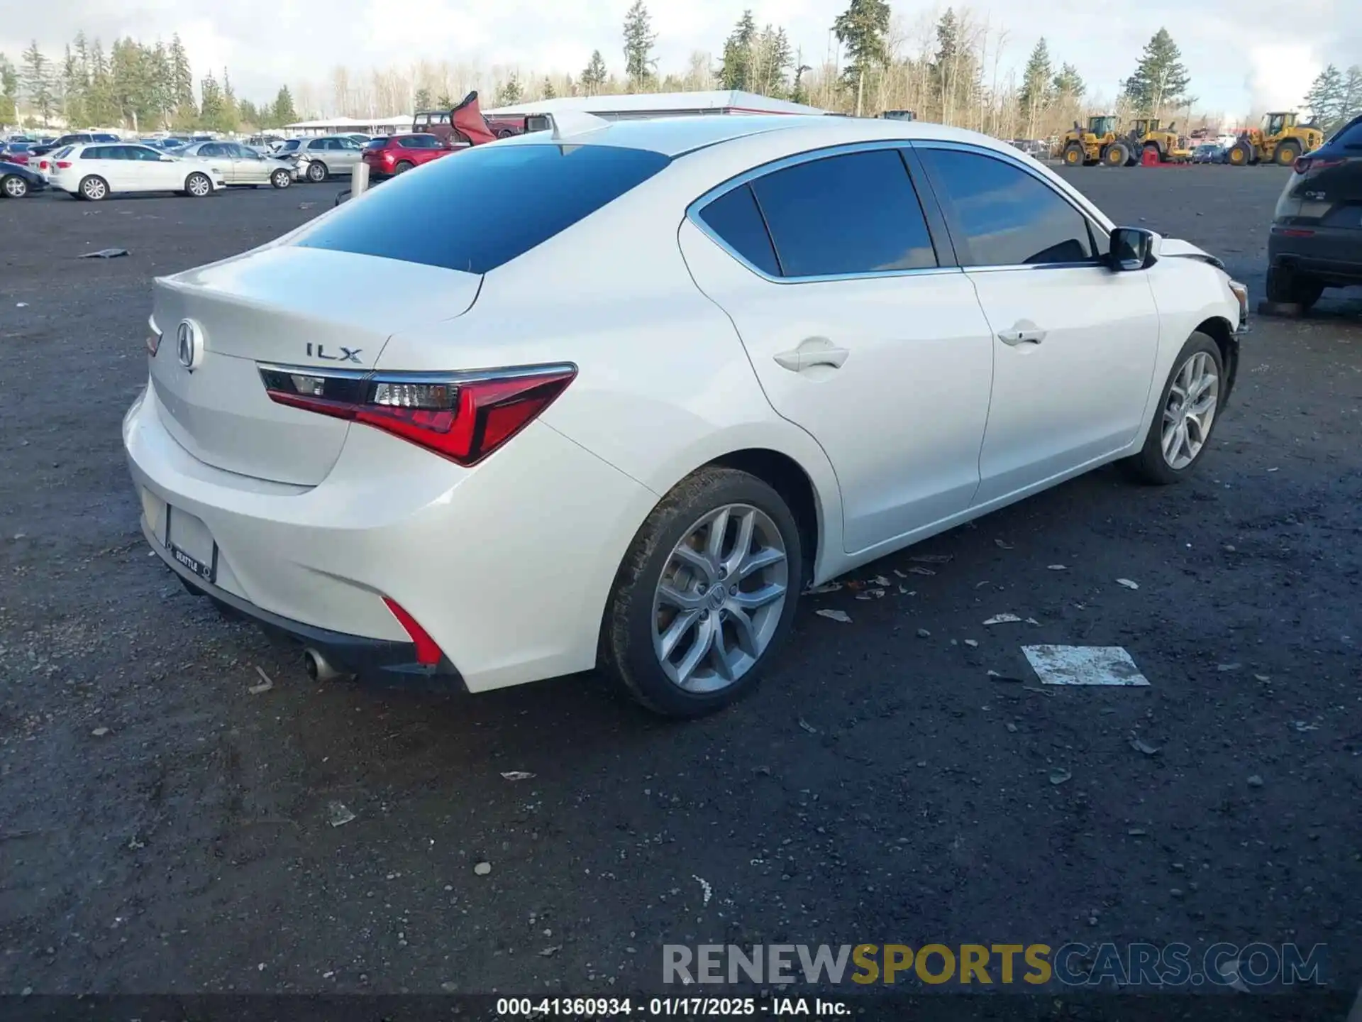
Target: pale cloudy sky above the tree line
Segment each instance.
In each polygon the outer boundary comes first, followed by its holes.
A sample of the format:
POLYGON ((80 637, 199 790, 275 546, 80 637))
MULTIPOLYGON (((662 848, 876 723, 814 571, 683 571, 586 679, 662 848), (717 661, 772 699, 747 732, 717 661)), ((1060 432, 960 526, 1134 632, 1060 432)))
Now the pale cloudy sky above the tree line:
MULTIPOLYGON (((336 64, 354 71, 418 59, 576 75, 592 49, 622 72, 620 26, 631 0, 44 0, 7 3, 0 52, 18 60, 30 40, 53 55, 80 29, 105 46, 118 35, 184 40, 195 75, 227 67, 238 95, 262 99, 282 82, 321 82, 336 64)), ((891 0, 911 31, 945 4, 891 0)), ((783 25, 804 61, 828 50, 846 0, 651 0, 662 71, 684 72, 693 50, 715 56, 750 5, 759 23, 783 25)), ((959 7, 959 5, 957 5, 959 7)), ((1045 35, 1050 53, 1077 65, 1091 91, 1111 98, 1160 26, 1173 33, 1208 110, 1297 106, 1328 63, 1362 60, 1362 0, 993 0, 971 4, 1009 30, 1004 67, 1020 65, 1045 35), (1271 42, 1273 37, 1297 40, 1271 42)), ((394 113, 405 113, 395 110, 394 113)))

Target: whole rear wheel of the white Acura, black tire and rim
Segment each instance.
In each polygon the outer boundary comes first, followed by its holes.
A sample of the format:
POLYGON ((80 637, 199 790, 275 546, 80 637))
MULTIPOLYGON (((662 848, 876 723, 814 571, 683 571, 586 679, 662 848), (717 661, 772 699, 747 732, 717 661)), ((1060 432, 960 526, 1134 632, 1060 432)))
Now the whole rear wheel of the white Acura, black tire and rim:
POLYGON ((601 625, 601 668, 654 713, 666 717, 714 713, 756 688, 763 669, 789 635, 802 586, 799 530, 780 495, 745 471, 700 469, 658 503, 625 555, 601 625), (719 557, 714 559, 696 542, 706 546, 712 542, 712 529, 720 516, 722 541, 719 557), (752 523, 746 556, 756 556, 755 546, 757 555, 783 548, 783 557, 776 553, 765 567, 734 585, 744 521, 752 523), (678 556, 682 548, 686 556, 678 556), (733 574, 726 575, 725 568, 733 574), (663 589, 676 601, 665 600, 663 589), (778 589, 775 598, 752 601, 757 591, 770 595, 778 589), (749 597, 744 601, 748 609, 737 608, 733 600, 742 594, 749 597), (682 600, 689 609, 680 609, 682 600), (748 623, 745 643, 738 638, 735 610, 748 623), (682 623, 685 617, 689 623, 682 623), (673 631, 678 627, 680 631, 673 631), (712 642, 715 635, 719 646, 712 642), (662 657, 661 643, 669 638, 670 650, 662 657), (696 662, 685 672, 691 660, 696 662))

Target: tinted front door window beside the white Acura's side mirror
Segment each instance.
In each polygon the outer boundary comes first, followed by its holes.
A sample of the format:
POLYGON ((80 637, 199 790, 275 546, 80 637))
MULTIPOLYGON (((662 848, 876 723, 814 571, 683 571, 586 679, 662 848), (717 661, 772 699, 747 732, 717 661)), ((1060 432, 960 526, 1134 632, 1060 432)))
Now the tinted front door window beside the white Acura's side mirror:
POLYGON ((962 266, 1080 263, 1087 219, 1054 188, 1001 159, 922 149, 962 266))

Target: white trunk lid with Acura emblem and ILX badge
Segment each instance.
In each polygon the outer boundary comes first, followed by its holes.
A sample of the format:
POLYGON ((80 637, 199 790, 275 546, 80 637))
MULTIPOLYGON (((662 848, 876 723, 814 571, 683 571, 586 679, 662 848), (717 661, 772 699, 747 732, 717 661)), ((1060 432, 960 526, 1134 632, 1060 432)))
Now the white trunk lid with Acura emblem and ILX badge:
POLYGON ((395 331, 466 312, 481 279, 289 244, 159 278, 153 319, 162 338, 151 380, 166 429, 219 469, 316 485, 349 424, 272 402, 260 364, 362 373, 395 331), (200 349, 188 367, 183 326, 200 349))

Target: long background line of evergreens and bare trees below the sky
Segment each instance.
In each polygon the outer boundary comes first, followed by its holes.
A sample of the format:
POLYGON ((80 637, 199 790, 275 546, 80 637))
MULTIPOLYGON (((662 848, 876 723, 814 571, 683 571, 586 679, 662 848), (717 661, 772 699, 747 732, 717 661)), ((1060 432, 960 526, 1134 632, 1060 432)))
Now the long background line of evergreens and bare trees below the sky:
MULTIPOLYGON (((662 74, 651 15, 644 0, 635 0, 621 26, 624 74, 618 76, 601 50, 575 75, 523 75, 518 68, 489 74, 430 61, 368 74, 338 67, 320 87, 315 82, 296 83, 296 91, 283 86, 272 102, 259 106, 234 94, 226 69, 200 78, 196 93, 178 37, 169 45, 125 38, 105 55, 98 40, 87 42, 80 34, 60 60, 45 56, 37 44, 18 67, 0 55, 0 123, 18 120, 12 108, 23 102, 37 120, 60 113, 72 125, 234 131, 279 127, 323 112, 364 117, 448 109, 470 89, 481 89, 494 105, 557 95, 735 89, 844 113, 910 109, 921 120, 1002 138, 1058 134, 1088 112, 1087 84, 1073 64, 1051 53, 1045 38, 1031 49, 1019 78, 1004 64, 1007 26, 967 7, 948 7, 904 26, 892 16, 888 0, 850 0, 829 30, 836 46, 829 41, 821 57, 806 57, 782 26, 759 25, 748 10, 723 40, 718 60, 697 52, 685 71, 662 74)), ((1189 86, 1181 53, 1160 29, 1124 82, 1115 109, 1100 112, 1124 117, 1186 110, 1196 102, 1189 86)), ((1329 89, 1329 95, 1339 91, 1329 89)))

